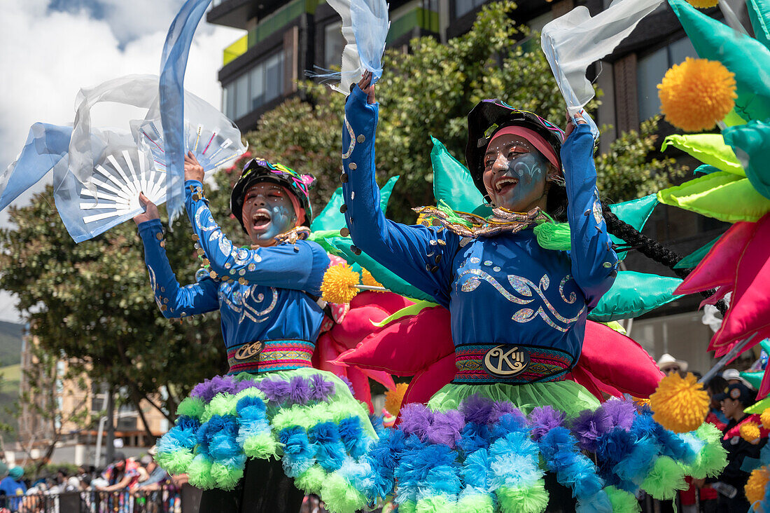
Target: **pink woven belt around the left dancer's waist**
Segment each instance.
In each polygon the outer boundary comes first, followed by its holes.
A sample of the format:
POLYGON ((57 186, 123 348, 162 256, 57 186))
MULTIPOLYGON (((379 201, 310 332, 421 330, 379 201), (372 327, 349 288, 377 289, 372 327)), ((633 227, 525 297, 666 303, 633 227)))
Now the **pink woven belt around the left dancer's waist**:
POLYGON ((312 367, 315 344, 309 340, 255 340, 227 348, 228 374, 267 373, 312 367))

